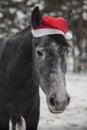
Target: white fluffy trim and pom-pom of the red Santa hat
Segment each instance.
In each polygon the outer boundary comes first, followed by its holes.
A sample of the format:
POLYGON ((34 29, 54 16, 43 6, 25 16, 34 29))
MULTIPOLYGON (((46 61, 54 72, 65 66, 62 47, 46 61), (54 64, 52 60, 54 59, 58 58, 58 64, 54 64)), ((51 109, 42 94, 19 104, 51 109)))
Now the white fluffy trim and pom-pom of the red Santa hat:
POLYGON ((42 37, 46 35, 52 35, 52 34, 61 34, 65 36, 67 40, 70 40, 72 38, 72 34, 70 32, 67 32, 66 34, 58 29, 32 29, 31 30, 33 37, 42 37))

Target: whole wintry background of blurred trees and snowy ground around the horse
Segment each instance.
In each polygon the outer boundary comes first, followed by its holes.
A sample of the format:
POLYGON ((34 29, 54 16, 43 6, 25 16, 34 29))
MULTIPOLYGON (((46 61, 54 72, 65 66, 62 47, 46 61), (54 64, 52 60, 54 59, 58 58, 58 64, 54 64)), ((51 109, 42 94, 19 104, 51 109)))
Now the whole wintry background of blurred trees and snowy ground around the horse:
POLYGON ((31 12, 39 6, 42 14, 65 16, 72 9, 72 48, 67 57, 67 89, 71 104, 60 115, 48 111, 41 91, 39 130, 87 130, 87 0, 0 0, 0 38, 8 37, 31 23, 31 12))

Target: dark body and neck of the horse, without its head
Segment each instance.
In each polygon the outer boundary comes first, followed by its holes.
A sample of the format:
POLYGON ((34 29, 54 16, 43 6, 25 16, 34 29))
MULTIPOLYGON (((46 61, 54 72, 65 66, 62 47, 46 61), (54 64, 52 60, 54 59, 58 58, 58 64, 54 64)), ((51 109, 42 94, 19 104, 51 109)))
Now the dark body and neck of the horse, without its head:
POLYGON ((16 121, 18 115, 24 116, 27 129, 37 127, 39 87, 33 80, 32 62, 29 28, 0 41, 0 130, 8 130, 9 119, 16 121))

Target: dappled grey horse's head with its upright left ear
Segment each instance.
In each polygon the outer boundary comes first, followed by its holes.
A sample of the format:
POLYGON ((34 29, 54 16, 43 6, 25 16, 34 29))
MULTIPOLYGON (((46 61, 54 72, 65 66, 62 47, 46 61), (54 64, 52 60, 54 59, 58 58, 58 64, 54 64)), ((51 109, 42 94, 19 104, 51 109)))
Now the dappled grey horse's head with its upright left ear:
MULTIPOLYGON (((32 12, 33 28, 37 29, 41 22, 40 11, 35 8, 32 12)), ((39 79, 48 107, 53 113, 63 112, 70 101, 65 82, 68 46, 62 34, 36 36, 33 39, 36 79, 39 79)))

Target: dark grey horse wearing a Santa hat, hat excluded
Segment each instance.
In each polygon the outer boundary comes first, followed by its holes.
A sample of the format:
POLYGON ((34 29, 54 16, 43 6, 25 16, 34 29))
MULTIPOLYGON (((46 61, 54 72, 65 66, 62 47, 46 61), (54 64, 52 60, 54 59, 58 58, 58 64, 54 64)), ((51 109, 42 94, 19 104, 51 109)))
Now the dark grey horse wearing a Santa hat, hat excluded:
MULTIPOLYGON (((36 7, 31 25, 37 28, 41 21, 36 7)), ((0 40, 0 130, 37 130, 39 86, 50 112, 65 110, 70 101, 65 82, 68 48, 62 34, 34 37, 31 26, 0 40)))

